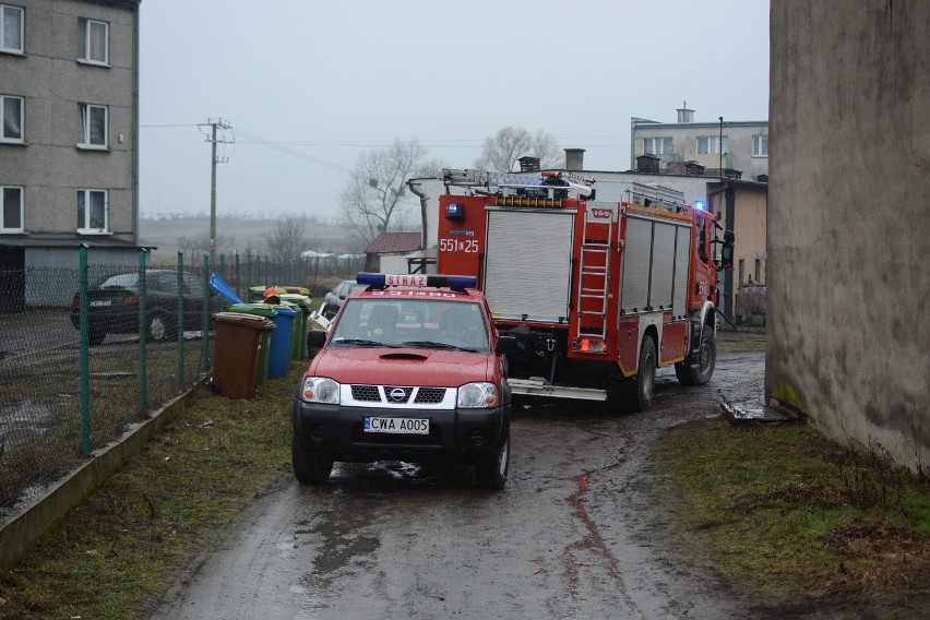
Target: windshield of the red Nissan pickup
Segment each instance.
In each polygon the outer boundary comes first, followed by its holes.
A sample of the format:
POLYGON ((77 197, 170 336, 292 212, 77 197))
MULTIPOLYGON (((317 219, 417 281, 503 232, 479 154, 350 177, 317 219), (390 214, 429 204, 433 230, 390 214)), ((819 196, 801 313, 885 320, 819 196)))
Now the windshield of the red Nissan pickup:
POLYGON ((444 299, 347 299, 330 344, 490 351, 480 306, 444 299))

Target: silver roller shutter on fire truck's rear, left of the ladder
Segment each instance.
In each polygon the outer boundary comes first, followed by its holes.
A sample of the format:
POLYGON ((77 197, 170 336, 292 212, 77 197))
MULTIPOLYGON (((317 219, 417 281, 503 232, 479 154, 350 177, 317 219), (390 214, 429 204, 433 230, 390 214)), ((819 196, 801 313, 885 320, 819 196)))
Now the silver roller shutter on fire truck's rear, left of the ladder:
POLYGON ((569 315, 574 211, 489 210, 485 297, 496 318, 569 315))

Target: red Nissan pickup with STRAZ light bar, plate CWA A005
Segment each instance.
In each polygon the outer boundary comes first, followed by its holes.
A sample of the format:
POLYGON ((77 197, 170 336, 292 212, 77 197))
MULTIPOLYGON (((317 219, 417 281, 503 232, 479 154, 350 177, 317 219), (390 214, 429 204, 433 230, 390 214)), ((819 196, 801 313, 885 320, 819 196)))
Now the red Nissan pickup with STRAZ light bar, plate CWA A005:
POLYGON ((291 461, 301 484, 325 482, 336 461, 475 466, 501 489, 510 466, 511 393, 484 295, 468 276, 358 274, 293 408, 291 461))

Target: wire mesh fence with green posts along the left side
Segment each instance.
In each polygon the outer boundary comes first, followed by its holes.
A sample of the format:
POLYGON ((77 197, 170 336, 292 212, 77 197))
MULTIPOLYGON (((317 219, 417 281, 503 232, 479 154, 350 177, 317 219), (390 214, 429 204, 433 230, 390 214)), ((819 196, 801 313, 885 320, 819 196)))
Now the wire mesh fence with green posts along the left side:
MULTIPOLYGON (((169 267, 90 264, 0 277, 0 513, 45 488, 190 389, 211 368, 210 314, 252 286, 303 286, 307 261, 222 258, 169 267), (38 300, 39 302, 36 302, 38 300)), ((92 257, 93 258, 93 257, 92 257)))

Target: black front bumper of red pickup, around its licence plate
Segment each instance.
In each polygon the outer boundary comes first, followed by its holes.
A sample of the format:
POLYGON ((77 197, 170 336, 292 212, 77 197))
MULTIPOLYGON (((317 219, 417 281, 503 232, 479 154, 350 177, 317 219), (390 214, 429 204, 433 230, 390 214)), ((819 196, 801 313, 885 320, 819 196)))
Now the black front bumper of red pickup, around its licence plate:
POLYGON ((294 432, 336 461, 455 462, 494 452, 510 432, 510 405, 492 409, 346 407, 294 401, 294 432), (429 418, 429 434, 365 432, 365 416, 429 418))

